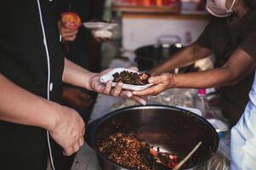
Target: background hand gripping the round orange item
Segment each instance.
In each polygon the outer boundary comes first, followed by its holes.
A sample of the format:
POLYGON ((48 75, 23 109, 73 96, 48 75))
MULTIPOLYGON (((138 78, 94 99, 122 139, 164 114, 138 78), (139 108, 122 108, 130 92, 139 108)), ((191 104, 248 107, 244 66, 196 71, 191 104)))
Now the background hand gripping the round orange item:
POLYGON ((61 20, 58 22, 60 35, 62 42, 72 42, 77 37, 78 27, 77 28, 67 28, 65 27, 61 20))

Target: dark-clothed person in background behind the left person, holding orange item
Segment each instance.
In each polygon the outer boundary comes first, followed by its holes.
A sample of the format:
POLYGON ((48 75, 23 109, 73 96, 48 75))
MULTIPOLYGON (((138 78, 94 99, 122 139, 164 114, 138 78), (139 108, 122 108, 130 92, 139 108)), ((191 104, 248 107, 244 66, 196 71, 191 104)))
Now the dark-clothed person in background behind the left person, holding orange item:
MULTIPOLYGON (((102 4, 99 5, 97 3, 98 5, 96 5, 96 7, 94 7, 94 3, 92 1, 84 0, 66 0, 59 1, 57 8, 60 8, 60 14, 67 11, 77 13, 82 22, 93 19, 100 20, 103 11, 103 8, 100 7, 101 5, 103 6, 104 1, 98 2, 102 4), (94 11, 94 13, 92 13, 92 11, 94 11)), ((96 39, 94 38, 93 33, 83 26, 80 26, 77 29, 67 28, 63 26, 61 20, 58 25, 66 58, 89 71, 100 71, 100 42, 105 42, 109 39, 96 39)), ((77 110, 88 107, 88 105, 92 103, 92 100, 95 99, 95 96, 96 95, 94 93, 90 93, 76 87, 65 86, 64 88, 65 104, 71 105, 77 110)), ((87 119, 88 114, 82 115, 86 115, 84 118, 87 119)))

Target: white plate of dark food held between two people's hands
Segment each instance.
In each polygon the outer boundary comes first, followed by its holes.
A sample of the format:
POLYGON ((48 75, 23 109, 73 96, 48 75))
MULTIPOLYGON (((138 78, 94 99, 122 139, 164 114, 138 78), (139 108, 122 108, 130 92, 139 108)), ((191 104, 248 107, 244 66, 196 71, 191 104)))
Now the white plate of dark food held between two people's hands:
MULTIPOLYGON (((111 70, 110 72, 108 72, 107 74, 103 75, 102 77, 100 77, 100 82, 109 82, 109 81, 113 81, 114 77, 113 75, 115 73, 120 73, 122 71, 129 71, 129 72, 137 72, 137 71, 132 71, 129 69, 124 69, 124 68, 116 68, 111 70)), ((139 72, 137 72, 139 73, 139 72)), ((145 88, 150 88, 153 84, 146 84, 144 86, 137 86, 137 85, 130 85, 130 84, 123 84, 122 88, 124 89, 128 89, 128 90, 133 90, 133 91, 140 91, 140 90, 144 90, 145 88)), ((116 87, 117 86, 117 82, 112 82, 112 87, 116 87)))

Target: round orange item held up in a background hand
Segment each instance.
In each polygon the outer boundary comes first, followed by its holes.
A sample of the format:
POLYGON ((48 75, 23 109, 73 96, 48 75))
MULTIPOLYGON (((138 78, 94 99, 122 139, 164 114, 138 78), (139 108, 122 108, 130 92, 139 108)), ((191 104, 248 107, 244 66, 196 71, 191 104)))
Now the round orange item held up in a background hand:
POLYGON ((81 19, 76 13, 68 12, 61 14, 62 24, 71 29, 77 29, 81 26, 81 19))

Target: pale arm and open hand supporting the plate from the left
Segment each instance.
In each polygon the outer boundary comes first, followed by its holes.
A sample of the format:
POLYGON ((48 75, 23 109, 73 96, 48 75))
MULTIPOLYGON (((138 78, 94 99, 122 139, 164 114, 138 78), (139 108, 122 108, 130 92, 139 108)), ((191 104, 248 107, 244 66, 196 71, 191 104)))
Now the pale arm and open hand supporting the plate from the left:
POLYGON ((99 94, 133 98, 145 105, 145 99, 139 98, 129 91, 122 90, 122 82, 118 82, 117 86, 113 89, 111 88, 112 82, 107 82, 106 84, 100 82, 100 77, 109 71, 111 70, 105 70, 100 73, 90 72, 83 69, 81 66, 74 64, 70 60, 65 59, 63 82, 77 87, 87 88, 88 90, 99 94))

